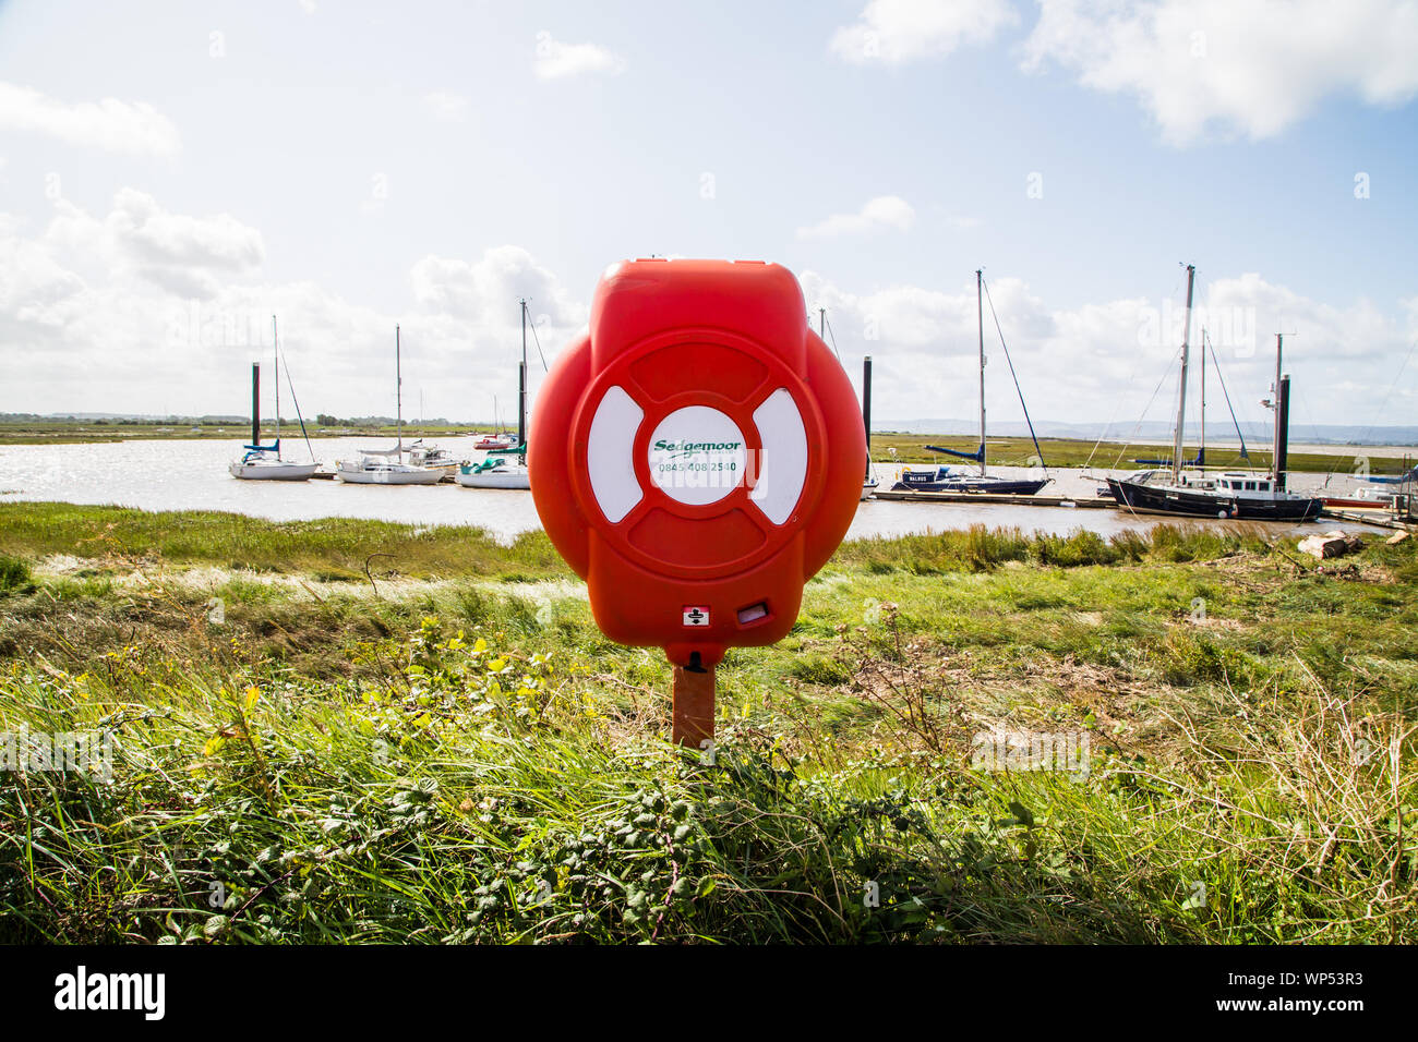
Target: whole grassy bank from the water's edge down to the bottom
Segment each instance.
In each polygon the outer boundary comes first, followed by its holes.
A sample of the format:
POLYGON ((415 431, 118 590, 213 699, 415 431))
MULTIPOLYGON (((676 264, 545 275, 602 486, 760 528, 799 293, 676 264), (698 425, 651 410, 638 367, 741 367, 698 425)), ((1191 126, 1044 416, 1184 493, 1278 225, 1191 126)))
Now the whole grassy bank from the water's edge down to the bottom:
POLYGON ((1415 542, 847 543, 703 756, 540 533, 0 505, 0 941, 1414 941, 1415 542))

